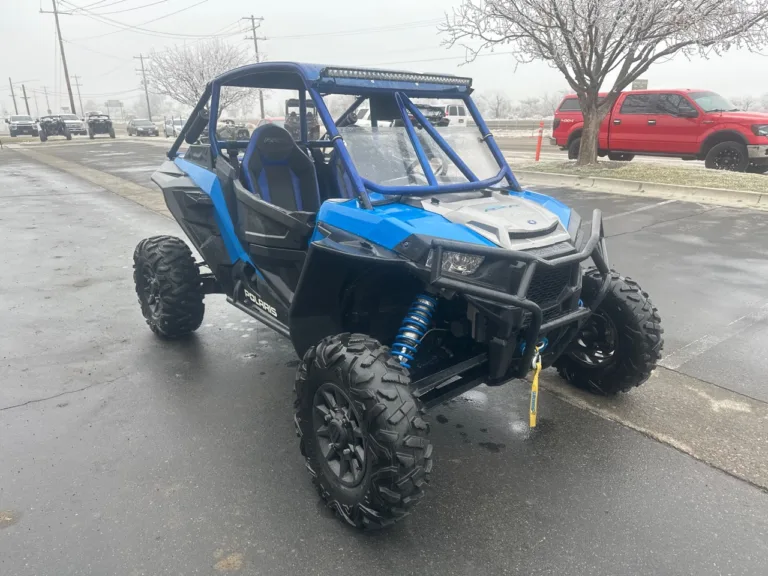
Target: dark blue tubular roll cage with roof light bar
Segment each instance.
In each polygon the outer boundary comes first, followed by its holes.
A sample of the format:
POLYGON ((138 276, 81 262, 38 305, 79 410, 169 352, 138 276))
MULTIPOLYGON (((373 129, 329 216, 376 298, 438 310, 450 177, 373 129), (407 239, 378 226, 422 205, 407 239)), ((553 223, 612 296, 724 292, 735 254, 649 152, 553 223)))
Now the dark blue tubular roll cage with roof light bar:
MULTIPOLYGON (((301 122, 300 143, 307 148, 332 148, 335 150, 350 177, 358 198, 365 208, 371 208, 372 206, 370 198, 370 193, 372 192, 384 195, 426 196, 448 192, 482 190, 494 186, 502 180, 506 180, 512 190, 521 190, 517 179, 512 173, 512 169, 504 159, 504 155, 493 138, 493 134, 488 129, 470 96, 472 80, 470 78, 436 74, 415 74, 411 72, 365 68, 340 68, 292 62, 265 62, 236 68, 208 83, 200 101, 189 115, 189 119, 169 150, 168 157, 170 159, 174 159, 178 155, 178 150, 189 133, 191 126, 194 124, 195 119, 201 113, 204 113, 209 101, 208 117, 211 119, 218 117, 219 98, 221 89, 224 86, 298 90, 301 122), (312 102, 314 102, 317 114, 325 126, 327 133, 324 139, 309 140, 308 138, 309 130, 306 118, 307 94, 309 94, 312 102), (334 120, 323 100, 323 96, 329 94, 355 95, 358 98, 337 120, 334 120), (344 139, 339 133, 337 122, 341 123, 369 97, 381 94, 394 96, 403 126, 427 179, 428 184, 426 186, 384 186, 363 178, 355 167, 355 163, 344 144, 344 139), (411 101, 412 97, 461 100, 466 105, 467 110, 477 125, 480 139, 485 142, 496 160, 499 172, 490 178, 479 179, 429 120, 427 120, 421 110, 411 101), (437 143, 443 153, 468 180, 467 182, 438 183, 427 154, 419 141, 416 126, 414 126, 411 118, 437 143)), ((376 126, 375 117, 372 119, 372 126, 376 126)), ((230 149, 245 148, 248 145, 247 141, 222 142, 218 140, 215 122, 209 122, 207 129, 211 155, 214 158, 221 154, 222 144, 225 144, 226 148, 230 149)))

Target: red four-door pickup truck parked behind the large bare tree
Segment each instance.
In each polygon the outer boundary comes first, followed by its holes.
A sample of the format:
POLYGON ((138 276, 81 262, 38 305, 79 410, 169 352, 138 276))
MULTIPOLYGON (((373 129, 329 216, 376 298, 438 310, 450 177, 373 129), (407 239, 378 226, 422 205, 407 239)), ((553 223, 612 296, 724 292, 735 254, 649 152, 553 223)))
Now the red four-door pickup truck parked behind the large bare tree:
MULTIPOLYGON (((579 101, 568 95, 555 112, 550 141, 578 158, 582 128, 579 101)), ((600 124, 598 150, 611 160, 670 156, 762 174, 768 172, 768 114, 739 111, 708 90, 622 92, 600 124)))

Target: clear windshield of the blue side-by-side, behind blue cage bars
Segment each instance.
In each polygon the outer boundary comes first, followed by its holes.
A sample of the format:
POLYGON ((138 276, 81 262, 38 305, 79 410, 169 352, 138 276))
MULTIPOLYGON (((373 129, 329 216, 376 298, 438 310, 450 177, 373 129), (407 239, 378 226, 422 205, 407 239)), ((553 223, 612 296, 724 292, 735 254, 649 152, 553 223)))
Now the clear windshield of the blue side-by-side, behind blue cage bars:
MULTIPOLYGON (((499 165, 476 127, 436 130, 480 180, 499 173, 499 165)), ((339 132, 363 178, 382 186, 428 185, 404 126, 352 125, 339 128, 339 132)), ((425 130, 420 129, 417 134, 439 184, 469 181, 425 130)))

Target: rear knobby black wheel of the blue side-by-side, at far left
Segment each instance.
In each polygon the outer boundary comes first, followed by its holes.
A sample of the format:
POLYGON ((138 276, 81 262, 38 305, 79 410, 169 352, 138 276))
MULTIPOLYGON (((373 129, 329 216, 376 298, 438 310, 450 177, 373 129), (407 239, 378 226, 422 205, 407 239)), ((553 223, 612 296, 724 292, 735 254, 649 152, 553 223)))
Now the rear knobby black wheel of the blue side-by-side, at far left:
POLYGON ((133 281, 141 313, 152 332, 178 338, 203 322, 205 304, 200 271, 180 238, 145 238, 133 253, 133 281))

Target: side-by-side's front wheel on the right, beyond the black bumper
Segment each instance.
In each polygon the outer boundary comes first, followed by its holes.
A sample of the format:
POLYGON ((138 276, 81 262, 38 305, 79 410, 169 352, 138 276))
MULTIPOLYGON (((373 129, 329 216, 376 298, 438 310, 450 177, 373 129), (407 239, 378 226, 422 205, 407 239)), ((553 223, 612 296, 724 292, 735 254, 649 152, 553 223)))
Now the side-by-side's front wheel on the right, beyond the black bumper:
MULTIPOLYGON (((594 268, 583 278, 582 299, 597 296, 601 278, 594 268)), ((648 380, 661 359, 661 317, 637 282, 611 272, 605 299, 555 366, 578 388, 613 396, 648 380)))

